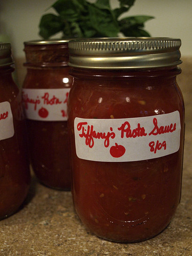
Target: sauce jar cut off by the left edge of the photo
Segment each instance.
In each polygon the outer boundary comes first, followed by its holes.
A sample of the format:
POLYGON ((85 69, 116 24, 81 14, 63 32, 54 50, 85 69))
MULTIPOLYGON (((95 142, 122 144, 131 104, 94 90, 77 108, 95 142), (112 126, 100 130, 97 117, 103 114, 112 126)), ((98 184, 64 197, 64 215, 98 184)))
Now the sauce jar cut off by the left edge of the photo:
POLYGON ((0 43, 0 219, 24 202, 30 186, 22 95, 12 79, 11 45, 0 43))

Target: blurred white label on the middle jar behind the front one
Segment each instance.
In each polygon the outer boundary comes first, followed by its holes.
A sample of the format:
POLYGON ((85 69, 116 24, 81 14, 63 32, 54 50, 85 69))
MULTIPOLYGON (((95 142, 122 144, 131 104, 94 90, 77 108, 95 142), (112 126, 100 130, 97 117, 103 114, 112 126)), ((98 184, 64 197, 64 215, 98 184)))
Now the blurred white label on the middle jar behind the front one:
POLYGON ((70 88, 23 89, 26 117, 41 121, 66 121, 70 88))

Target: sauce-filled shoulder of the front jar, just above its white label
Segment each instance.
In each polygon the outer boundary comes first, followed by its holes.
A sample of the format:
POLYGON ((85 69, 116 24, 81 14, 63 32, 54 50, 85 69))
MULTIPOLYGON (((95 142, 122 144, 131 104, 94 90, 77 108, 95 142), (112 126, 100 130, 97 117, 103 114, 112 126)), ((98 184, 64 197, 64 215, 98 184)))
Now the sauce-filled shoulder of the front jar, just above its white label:
POLYGON ((87 118, 129 118, 182 112, 183 98, 176 81, 74 80, 69 111, 87 118))

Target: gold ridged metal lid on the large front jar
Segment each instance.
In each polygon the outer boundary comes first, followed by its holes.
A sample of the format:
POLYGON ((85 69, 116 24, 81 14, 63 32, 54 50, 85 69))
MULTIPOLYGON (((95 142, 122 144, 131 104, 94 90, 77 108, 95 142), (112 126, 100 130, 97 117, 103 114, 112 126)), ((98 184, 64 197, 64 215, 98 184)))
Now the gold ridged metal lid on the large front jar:
POLYGON ((141 69, 177 66, 181 40, 168 37, 115 37, 69 41, 69 66, 141 69))

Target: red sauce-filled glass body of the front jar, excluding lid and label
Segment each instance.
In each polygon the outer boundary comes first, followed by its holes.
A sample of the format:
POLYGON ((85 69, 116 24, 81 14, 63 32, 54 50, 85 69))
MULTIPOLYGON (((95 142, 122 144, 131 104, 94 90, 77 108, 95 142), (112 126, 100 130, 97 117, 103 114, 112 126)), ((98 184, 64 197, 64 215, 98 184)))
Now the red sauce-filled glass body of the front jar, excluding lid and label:
POLYGON ((154 237, 180 201, 184 104, 176 82, 180 70, 103 71, 72 69, 68 101, 74 205, 97 236, 116 242, 154 237), (86 77, 86 79, 83 79, 86 77), (155 159, 99 162, 76 155, 74 120, 146 117, 179 111, 179 150, 155 159))

